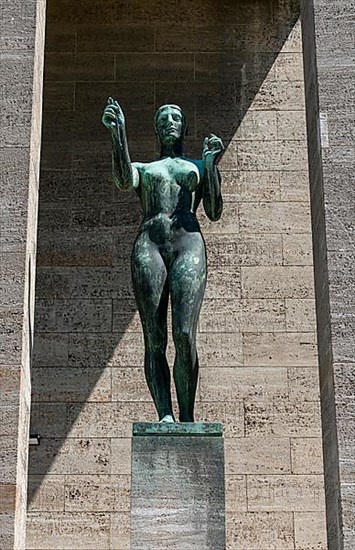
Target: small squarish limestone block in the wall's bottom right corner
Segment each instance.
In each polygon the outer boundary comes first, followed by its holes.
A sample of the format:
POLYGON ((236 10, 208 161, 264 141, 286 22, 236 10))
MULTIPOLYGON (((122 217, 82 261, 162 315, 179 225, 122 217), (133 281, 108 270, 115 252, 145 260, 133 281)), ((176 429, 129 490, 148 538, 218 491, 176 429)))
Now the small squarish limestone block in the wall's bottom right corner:
POLYGON ((295 543, 296 550, 327 550, 323 513, 295 512, 295 543))

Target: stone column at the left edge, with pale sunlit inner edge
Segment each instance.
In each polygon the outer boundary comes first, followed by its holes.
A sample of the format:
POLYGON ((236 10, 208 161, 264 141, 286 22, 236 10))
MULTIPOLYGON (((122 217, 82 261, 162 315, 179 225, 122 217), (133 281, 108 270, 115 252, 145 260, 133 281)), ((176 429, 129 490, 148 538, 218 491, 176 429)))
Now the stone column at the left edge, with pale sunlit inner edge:
POLYGON ((0 6, 0 548, 25 548, 46 0, 0 6))

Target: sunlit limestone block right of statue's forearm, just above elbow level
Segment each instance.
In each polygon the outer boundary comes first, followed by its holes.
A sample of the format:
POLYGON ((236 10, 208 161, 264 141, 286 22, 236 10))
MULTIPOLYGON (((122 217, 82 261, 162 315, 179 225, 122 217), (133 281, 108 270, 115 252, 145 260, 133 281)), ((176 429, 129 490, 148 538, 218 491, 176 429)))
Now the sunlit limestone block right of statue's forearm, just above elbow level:
POLYGON ((222 172, 225 201, 269 202, 279 200, 278 172, 224 170, 222 172))

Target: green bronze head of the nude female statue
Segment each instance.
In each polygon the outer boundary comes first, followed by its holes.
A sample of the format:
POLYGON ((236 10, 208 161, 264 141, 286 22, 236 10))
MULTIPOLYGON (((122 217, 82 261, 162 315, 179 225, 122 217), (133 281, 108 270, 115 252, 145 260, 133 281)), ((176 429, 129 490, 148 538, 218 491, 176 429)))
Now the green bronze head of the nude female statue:
POLYGON ((162 146, 182 142, 186 116, 178 105, 162 105, 155 114, 155 131, 162 146))

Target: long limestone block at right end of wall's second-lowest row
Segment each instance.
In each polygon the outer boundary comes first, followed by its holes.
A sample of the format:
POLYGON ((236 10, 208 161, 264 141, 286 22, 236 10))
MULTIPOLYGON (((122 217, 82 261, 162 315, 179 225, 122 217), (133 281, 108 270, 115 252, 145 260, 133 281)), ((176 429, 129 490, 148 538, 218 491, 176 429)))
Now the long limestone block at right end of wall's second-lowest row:
POLYGON ((247 478, 247 491, 250 511, 324 510, 324 482, 321 475, 250 475, 247 478))

